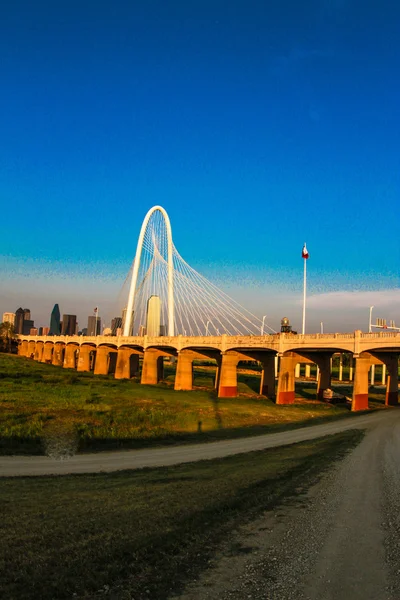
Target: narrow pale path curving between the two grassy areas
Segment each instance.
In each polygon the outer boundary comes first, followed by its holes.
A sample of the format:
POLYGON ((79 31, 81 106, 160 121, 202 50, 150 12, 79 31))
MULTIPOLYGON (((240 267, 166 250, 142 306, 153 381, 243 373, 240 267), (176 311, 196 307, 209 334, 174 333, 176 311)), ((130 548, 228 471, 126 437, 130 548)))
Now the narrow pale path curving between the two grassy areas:
POLYGON ((372 414, 340 419, 323 425, 282 431, 281 433, 169 448, 78 454, 65 460, 56 460, 48 456, 0 456, 0 476, 99 473, 209 460, 254 450, 264 450, 275 446, 295 444, 347 429, 365 429, 375 422, 385 419, 386 414, 386 411, 382 410, 372 414))

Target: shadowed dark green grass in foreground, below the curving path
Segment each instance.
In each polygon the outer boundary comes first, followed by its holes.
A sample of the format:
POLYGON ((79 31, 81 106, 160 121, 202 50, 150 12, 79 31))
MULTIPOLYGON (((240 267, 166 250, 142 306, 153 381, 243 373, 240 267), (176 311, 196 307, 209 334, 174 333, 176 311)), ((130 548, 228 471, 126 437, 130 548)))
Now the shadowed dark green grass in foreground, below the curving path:
POLYGON ((169 597, 240 524, 362 438, 350 431, 173 468, 0 479, 0 597, 169 597))

